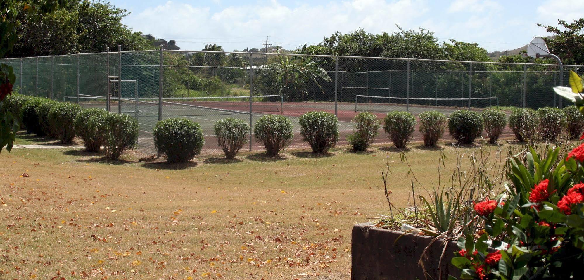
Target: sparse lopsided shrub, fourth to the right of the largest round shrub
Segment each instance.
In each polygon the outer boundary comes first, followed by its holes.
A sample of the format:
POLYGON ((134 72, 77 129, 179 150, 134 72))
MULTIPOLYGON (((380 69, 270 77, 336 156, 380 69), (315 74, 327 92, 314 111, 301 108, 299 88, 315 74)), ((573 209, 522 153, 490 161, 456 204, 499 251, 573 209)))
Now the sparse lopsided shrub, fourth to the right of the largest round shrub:
POLYGON ((365 151, 381 127, 377 116, 369 112, 360 112, 353 117, 353 133, 347 136, 347 141, 353 146, 353 151, 365 151))

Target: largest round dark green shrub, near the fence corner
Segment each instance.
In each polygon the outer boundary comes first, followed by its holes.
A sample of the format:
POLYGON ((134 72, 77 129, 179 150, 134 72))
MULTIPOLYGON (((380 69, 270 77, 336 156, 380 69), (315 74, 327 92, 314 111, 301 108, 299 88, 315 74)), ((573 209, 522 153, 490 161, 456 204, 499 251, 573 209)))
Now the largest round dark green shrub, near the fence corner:
POLYGON ((154 147, 171 163, 185 163, 201 153, 205 144, 203 130, 198 123, 187 119, 165 119, 156 123, 154 147))

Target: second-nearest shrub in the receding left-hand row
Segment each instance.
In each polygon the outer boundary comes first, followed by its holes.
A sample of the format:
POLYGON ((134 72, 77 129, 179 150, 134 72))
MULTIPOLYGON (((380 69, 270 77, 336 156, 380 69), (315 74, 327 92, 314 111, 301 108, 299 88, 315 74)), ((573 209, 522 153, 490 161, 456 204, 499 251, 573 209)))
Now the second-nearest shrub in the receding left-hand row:
POLYGON ((100 127, 107 112, 103 109, 84 109, 75 117, 75 134, 81 137, 85 150, 98 152, 102 147, 100 127))

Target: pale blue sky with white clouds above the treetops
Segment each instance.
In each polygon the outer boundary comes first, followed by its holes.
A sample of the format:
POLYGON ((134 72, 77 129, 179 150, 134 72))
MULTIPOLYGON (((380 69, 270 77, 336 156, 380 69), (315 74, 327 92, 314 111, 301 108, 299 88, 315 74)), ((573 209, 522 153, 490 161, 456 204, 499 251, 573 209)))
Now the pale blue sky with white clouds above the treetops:
POLYGON ((478 43, 488 51, 517 49, 548 33, 537 23, 584 17, 582 0, 110 0, 131 12, 123 23, 134 31, 176 40, 182 50, 216 43, 225 51, 268 43, 294 50, 318 44, 335 32, 359 27, 391 33, 396 25, 423 27, 440 42, 478 43))

